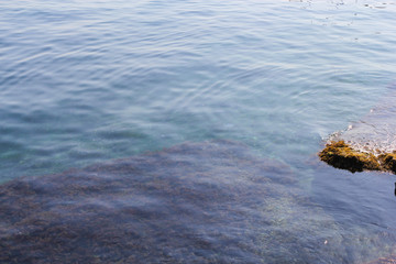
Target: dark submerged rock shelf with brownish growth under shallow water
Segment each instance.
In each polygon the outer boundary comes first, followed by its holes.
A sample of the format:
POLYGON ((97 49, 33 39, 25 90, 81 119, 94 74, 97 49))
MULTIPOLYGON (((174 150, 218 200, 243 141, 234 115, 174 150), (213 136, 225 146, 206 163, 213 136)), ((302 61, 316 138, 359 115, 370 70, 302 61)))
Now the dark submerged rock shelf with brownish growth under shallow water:
POLYGON ((297 186, 287 165, 231 141, 11 180, 0 262, 354 263, 382 246, 349 245, 366 233, 345 238, 297 186))

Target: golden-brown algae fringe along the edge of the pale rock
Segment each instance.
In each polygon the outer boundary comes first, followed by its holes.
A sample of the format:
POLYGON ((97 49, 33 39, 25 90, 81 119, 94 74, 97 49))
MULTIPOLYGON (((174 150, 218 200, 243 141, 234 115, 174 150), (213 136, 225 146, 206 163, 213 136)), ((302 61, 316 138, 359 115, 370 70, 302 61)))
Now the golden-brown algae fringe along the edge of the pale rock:
POLYGON ((396 154, 384 153, 374 155, 354 150, 344 141, 332 141, 319 153, 321 161, 329 165, 348 169, 352 173, 367 170, 384 170, 396 174, 396 154))

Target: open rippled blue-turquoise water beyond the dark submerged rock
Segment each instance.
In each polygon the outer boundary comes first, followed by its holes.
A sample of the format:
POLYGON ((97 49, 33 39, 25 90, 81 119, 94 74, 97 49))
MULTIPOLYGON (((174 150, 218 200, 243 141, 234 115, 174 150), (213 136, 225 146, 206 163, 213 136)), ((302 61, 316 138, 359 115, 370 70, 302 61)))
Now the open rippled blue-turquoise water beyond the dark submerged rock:
POLYGON ((2 178, 213 138, 315 154, 394 81, 396 7, 375 6, 1 3, 2 178))

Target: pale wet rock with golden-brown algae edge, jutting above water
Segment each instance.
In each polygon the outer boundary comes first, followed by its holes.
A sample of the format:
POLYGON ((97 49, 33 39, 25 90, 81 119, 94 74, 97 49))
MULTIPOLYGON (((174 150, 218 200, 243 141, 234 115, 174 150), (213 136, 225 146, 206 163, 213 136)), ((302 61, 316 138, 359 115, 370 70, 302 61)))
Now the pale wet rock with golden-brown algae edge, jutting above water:
POLYGON ((396 174, 396 92, 388 94, 359 121, 329 136, 319 153, 328 164, 351 172, 383 170, 396 174))

